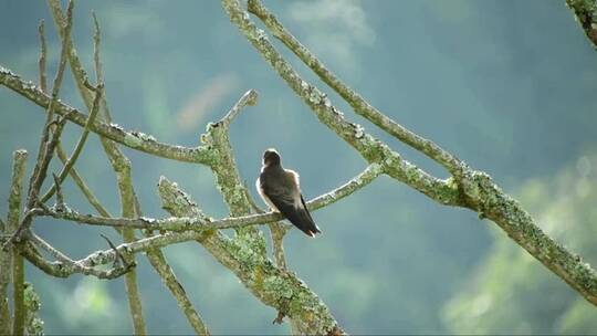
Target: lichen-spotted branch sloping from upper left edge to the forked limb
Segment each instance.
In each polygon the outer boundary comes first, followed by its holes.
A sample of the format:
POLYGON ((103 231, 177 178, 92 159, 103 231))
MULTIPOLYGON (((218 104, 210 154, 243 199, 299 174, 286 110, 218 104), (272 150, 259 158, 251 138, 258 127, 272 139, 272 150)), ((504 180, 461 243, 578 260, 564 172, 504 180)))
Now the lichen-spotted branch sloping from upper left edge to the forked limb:
MULTIPOLYGON (((24 82, 20 76, 0 65, 0 85, 3 85, 36 105, 48 108, 52 98, 31 82, 24 82)), ((61 101, 55 104, 55 113, 66 116, 70 122, 84 127, 87 115, 82 114, 76 108, 71 107, 61 101)), ((177 161, 195 162, 208 165, 213 159, 213 154, 206 147, 182 147, 160 143, 153 136, 140 132, 127 132, 115 124, 105 124, 95 120, 90 125, 90 129, 103 137, 118 144, 137 149, 147 154, 159 156, 177 161)))

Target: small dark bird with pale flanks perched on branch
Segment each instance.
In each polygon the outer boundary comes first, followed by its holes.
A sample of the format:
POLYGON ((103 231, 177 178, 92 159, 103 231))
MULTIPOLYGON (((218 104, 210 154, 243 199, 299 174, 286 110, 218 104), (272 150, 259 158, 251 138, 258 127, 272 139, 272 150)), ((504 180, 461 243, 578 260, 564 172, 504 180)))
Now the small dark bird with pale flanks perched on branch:
POLYGON ((256 180, 259 195, 274 211, 279 211, 310 237, 321 233, 301 195, 298 174, 282 167, 280 154, 273 148, 263 153, 263 167, 256 180))

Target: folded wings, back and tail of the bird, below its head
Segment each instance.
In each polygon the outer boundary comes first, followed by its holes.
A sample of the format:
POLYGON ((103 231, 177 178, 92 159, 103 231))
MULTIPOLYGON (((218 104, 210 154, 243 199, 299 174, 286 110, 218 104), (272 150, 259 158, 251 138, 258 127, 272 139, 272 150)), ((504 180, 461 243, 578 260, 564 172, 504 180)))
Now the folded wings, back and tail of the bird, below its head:
POLYGON ((298 186, 287 181, 263 183, 263 193, 291 223, 306 234, 315 237, 315 233, 321 231, 305 207, 298 186))

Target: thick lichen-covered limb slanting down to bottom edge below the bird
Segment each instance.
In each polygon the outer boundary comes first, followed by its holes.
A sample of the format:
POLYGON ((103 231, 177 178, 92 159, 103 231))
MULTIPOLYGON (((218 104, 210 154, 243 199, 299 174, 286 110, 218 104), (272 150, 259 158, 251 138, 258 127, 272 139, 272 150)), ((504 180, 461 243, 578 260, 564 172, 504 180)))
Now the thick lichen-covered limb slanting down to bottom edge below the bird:
MULTIPOLYGON (((201 216, 196 203, 175 183, 159 181, 164 208, 172 216, 201 216)), ((199 242, 264 304, 289 316, 307 335, 341 333, 336 321, 320 298, 294 274, 274 266, 259 253, 254 239, 239 234, 230 240, 219 231, 210 232, 199 242)), ((187 233, 187 232, 185 232, 187 233)))

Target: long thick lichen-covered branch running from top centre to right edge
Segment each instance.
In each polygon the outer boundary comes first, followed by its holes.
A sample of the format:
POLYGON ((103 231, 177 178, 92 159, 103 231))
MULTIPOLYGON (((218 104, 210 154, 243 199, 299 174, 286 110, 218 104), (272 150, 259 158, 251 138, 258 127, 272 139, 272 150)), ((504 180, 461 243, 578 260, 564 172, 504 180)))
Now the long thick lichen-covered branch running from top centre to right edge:
MULTIPOLYGON (((462 165, 462 169, 453 172, 451 178, 443 181, 437 180, 401 159, 398 154, 364 134, 362 129, 358 132, 360 136, 352 134, 350 124, 344 120, 325 95, 298 76, 269 42, 265 33, 254 25, 239 2, 237 0, 222 0, 222 2, 231 21, 289 86, 315 112, 320 120, 357 149, 367 160, 376 161, 381 157, 380 164, 384 164, 387 175, 441 203, 467 207, 479 212, 480 217, 493 220, 516 243, 566 281, 587 301, 597 305, 597 272, 584 263, 578 255, 547 237, 531 216, 505 195, 486 174, 474 171, 462 165)), ((255 1, 252 2, 252 7, 254 12, 259 11, 255 1)), ((264 15, 264 20, 271 21, 271 18, 264 15)), ((272 27, 275 29, 275 25, 272 27)), ((311 64, 307 65, 311 66, 311 64)), ((317 66, 323 65, 320 63, 317 66)), ((358 105, 349 101, 354 98, 350 95, 346 95, 345 98, 350 105, 358 105)))

